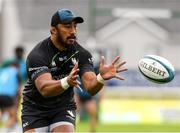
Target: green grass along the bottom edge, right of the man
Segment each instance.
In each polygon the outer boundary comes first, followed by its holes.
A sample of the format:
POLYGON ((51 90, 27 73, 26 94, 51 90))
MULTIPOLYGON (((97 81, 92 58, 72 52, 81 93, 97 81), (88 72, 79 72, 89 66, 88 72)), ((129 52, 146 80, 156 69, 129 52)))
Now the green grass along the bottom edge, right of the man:
MULTIPOLYGON (((77 123, 77 132, 88 132, 88 123, 77 123)), ((97 132, 180 132, 180 124, 161 125, 119 125, 119 124, 98 124, 97 132)))

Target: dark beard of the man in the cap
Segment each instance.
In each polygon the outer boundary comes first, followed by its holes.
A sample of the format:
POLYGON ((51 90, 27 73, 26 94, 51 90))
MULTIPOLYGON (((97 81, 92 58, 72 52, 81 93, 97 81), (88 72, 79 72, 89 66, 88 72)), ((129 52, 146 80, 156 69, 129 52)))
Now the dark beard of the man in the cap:
POLYGON ((77 38, 76 38, 75 35, 71 35, 71 36, 69 36, 69 37, 66 38, 67 41, 68 41, 68 39, 75 39, 75 41, 74 41, 74 43, 68 43, 68 42, 66 42, 66 41, 63 39, 61 33, 58 31, 57 41, 61 44, 62 47, 64 47, 64 48, 69 48, 71 45, 75 44, 75 42, 76 42, 76 40, 77 40, 77 38))

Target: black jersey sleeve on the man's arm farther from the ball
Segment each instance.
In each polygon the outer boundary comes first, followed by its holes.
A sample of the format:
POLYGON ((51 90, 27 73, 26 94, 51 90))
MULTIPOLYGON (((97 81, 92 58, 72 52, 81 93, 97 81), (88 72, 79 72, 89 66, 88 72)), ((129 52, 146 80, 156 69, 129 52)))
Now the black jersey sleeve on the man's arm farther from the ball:
POLYGON ((39 53, 30 54, 26 60, 26 66, 28 78, 33 82, 41 74, 50 73, 47 59, 39 53))

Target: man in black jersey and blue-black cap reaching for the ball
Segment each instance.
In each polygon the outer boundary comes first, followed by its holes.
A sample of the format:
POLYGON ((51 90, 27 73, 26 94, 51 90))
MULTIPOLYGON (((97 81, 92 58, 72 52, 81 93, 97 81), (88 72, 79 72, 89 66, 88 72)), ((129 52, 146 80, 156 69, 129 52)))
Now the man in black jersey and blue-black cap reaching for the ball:
POLYGON ((88 93, 95 95, 105 80, 124 80, 125 61, 117 56, 111 64, 102 57, 96 76, 92 56, 77 42, 77 24, 83 18, 61 9, 51 18, 51 36, 29 53, 26 66, 28 80, 23 90, 23 132, 74 132, 76 105, 73 88, 78 77, 88 93))

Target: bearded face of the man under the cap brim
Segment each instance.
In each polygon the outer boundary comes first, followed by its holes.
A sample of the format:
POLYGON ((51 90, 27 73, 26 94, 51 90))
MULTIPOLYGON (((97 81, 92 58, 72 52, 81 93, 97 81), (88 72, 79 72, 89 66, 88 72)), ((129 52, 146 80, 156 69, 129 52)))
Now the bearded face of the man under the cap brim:
POLYGON ((63 47, 68 48, 70 45, 73 45, 77 39, 77 24, 71 22, 68 24, 58 24, 57 27, 57 40, 63 47))

